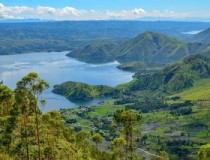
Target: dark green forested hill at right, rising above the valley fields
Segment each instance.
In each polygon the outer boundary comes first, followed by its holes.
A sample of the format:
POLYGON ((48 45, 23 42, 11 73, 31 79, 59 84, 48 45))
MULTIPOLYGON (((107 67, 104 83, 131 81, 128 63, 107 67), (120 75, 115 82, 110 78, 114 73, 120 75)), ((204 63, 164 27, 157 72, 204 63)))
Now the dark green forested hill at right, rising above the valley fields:
POLYGON ((210 77, 210 59, 202 55, 189 56, 157 73, 138 77, 131 90, 152 90, 176 93, 210 77))

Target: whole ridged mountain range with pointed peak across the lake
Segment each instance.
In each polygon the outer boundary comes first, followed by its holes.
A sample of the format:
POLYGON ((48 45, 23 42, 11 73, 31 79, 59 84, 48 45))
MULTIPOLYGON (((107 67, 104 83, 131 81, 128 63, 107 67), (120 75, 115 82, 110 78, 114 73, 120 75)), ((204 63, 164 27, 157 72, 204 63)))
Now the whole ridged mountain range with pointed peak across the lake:
POLYGON ((70 52, 67 56, 89 63, 117 60, 121 63, 142 61, 172 63, 204 50, 202 43, 186 43, 156 32, 144 32, 122 44, 93 43, 70 52))

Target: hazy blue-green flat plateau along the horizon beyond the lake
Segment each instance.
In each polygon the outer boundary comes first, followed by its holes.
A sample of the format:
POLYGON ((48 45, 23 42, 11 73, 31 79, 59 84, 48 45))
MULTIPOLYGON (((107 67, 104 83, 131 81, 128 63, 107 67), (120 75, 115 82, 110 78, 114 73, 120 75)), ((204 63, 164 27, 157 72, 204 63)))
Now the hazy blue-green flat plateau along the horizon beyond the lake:
POLYGON ((72 51, 92 43, 122 43, 146 30, 176 37, 186 30, 204 30, 209 23, 141 21, 63 21, 1 23, 0 55, 72 51))

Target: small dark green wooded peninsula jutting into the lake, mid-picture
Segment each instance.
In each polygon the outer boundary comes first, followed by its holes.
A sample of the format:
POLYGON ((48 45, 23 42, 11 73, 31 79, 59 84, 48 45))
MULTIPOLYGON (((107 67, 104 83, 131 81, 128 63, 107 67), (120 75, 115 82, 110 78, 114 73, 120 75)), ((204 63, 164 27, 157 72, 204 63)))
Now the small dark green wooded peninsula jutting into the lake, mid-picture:
POLYGON ((105 85, 88 85, 80 82, 68 81, 55 85, 53 93, 65 96, 69 100, 90 100, 99 96, 107 96, 113 93, 114 89, 105 85))

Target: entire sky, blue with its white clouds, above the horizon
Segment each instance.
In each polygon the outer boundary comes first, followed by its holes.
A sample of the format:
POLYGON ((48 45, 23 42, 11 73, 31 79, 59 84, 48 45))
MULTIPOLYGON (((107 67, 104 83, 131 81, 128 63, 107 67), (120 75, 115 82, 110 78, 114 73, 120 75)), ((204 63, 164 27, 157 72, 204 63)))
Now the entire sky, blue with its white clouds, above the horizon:
POLYGON ((0 19, 210 21, 210 0, 0 0, 0 19))

